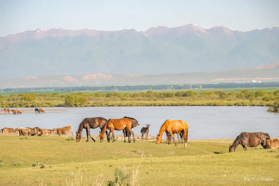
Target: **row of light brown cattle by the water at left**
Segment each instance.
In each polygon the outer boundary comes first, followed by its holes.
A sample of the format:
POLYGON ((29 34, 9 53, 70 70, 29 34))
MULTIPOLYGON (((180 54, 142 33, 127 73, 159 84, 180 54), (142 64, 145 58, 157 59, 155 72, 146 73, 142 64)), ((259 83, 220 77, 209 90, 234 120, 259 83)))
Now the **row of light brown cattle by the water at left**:
POLYGON ((17 132, 17 135, 35 135, 35 136, 44 136, 44 135, 50 135, 50 134, 57 134, 59 137, 62 134, 68 134, 70 133, 70 136, 73 137, 73 127, 72 126, 66 126, 58 129, 41 129, 39 127, 31 128, 31 127, 26 127, 26 128, 6 128, 4 127, 3 129, 0 129, 0 133, 14 133, 17 132))

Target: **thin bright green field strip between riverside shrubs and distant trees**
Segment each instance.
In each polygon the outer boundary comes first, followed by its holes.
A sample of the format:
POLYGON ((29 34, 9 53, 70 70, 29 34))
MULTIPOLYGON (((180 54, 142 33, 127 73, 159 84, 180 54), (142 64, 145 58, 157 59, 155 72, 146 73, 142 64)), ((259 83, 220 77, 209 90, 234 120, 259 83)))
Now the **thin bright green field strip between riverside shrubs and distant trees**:
MULTIPOLYGON (((229 92, 241 92, 245 90, 246 88, 228 88, 228 89, 191 89, 194 92, 200 93, 200 92, 215 92, 215 91, 224 91, 226 93, 229 92)), ((188 91, 190 89, 164 89, 164 90, 153 90, 153 92, 177 92, 177 91, 188 91)), ((248 91, 277 91, 279 90, 279 87, 272 87, 272 88, 247 88, 248 91)), ((61 95, 64 94, 75 94, 78 92, 82 92, 83 94, 94 94, 95 92, 100 92, 101 94, 108 93, 108 92, 119 92, 119 93, 129 93, 129 94, 134 94, 134 93, 140 93, 140 92, 147 92, 147 91, 63 91, 63 92, 56 92, 61 95)), ((35 94, 52 94, 55 93, 55 91, 29 91, 29 92, 1 92, 0 95, 11 95, 11 94, 26 94, 26 93, 35 93, 35 94)))

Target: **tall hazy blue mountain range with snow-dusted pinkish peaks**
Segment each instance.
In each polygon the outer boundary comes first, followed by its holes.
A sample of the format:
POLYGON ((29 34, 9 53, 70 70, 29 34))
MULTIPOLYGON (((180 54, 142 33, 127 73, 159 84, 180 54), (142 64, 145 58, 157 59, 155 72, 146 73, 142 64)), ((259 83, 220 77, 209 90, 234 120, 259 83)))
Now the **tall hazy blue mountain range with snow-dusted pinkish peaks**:
POLYGON ((37 29, 0 38, 1 79, 62 74, 215 72, 279 62, 279 27, 194 24, 146 31, 37 29))

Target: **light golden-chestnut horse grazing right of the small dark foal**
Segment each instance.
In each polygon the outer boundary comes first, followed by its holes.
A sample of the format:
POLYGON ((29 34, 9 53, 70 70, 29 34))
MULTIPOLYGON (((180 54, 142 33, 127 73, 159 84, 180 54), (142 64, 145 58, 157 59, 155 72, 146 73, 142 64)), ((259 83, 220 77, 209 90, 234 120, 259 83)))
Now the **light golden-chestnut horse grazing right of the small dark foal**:
MULTIPOLYGON (((157 134, 156 144, 160 144, 162 141, 162 135, 164 132, 170 133, 172 139, 175 142, 175 146, 177 146, 174 133, 181 132, 182 136, 184 137, 184 147, 187 146, 187 139, 188 139, 188 124, 183 120, 166 120, 164 124, 161 126, 159 134, 157 134)), ((166 133, 167 134, 167 133, 166 133)), ((167 136, 168 137, 168 136, 167 136)))

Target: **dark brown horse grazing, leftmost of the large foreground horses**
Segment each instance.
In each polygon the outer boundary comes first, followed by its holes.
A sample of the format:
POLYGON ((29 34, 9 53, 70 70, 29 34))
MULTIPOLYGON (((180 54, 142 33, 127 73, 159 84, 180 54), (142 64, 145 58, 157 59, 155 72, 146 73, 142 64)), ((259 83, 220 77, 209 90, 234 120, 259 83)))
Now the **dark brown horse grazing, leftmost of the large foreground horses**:
MULTIPOLYGON (((104 127, 104 124, 107 122, 107 120, 103 117, 89 117, 89 118, 84 118, 82 120, 82 122, 80 122, 79 126, 78 126, 78 131, 77 136, 76 136, 76 142, 79 142, 81 139, 81 134, 82 134, 82 130, 85 129, 86 130, 86 135, 87 135, 87 140, 86 142, 89 140, 88 135, 91 137, 91 139, 95 142, 95 139, 92 138, 92 136, 90 135, 90 129, 95 129, 100 127, 100 129, 102 130, 102 128, 104 127)), ((107 135, 107 139, 108 139, 108 131, 106 131, 106 135, 107 135)))

